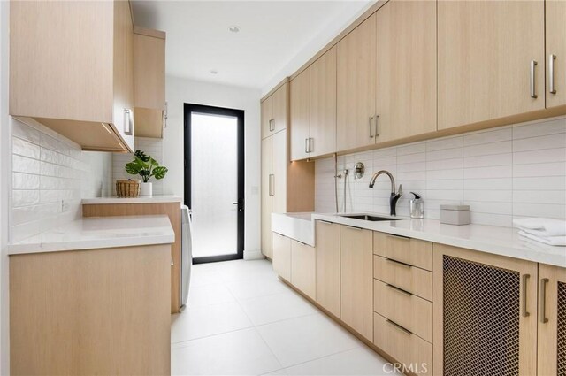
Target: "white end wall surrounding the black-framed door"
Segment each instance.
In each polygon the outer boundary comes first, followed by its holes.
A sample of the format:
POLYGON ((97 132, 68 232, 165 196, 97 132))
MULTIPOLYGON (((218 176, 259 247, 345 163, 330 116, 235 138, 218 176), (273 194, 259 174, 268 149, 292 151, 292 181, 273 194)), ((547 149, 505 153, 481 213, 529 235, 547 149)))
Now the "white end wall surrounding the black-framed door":
MULTIPOLYGON (((245 144, 245 236, 244 257, 261 257, 260 252, 260 117, 259 89, 236 88, 167 76, 167 127, 163 138, 163 165, 169 168, 164 194, 183 195, 184 104, 205 104, 244 111, 245 144)), ((222 184, 222 176, 210 171, 211 179, 222 184)))

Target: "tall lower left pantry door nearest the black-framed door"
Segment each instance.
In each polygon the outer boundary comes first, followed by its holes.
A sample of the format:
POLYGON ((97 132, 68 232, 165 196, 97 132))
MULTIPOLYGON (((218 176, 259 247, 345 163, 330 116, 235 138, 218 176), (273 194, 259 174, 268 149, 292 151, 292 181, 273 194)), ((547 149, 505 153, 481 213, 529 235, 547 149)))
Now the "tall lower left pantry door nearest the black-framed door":
POLYGON ((262 253, 272 258, 272 137, 262 140, 262 253))

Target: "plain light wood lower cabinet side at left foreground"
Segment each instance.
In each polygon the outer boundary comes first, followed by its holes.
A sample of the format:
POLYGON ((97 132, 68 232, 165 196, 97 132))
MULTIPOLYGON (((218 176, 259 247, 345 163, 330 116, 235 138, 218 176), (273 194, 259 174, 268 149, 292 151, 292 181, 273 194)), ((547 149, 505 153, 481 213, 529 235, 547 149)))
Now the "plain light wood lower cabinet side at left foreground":
POLYGON ((11 256, 11 374, 170 374, 170 307, 169 244, 11 256))

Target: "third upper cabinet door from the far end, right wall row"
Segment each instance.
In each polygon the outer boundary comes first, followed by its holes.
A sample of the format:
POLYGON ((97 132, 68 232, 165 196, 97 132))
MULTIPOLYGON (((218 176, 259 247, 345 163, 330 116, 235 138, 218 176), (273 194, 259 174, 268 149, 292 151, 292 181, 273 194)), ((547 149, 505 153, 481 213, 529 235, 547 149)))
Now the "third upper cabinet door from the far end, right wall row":
POLYGON ((338 150, 375 143, 376 15, 337 46, 336 128, 338 150))

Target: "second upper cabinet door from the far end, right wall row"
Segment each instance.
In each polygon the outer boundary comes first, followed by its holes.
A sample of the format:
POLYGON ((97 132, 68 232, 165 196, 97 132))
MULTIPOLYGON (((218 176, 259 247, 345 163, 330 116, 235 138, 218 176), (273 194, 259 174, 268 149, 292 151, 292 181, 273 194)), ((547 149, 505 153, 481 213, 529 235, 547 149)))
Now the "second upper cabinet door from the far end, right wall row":
POLYGON ((310 157, 336 151, 336 47, 310 66, 310 157))

